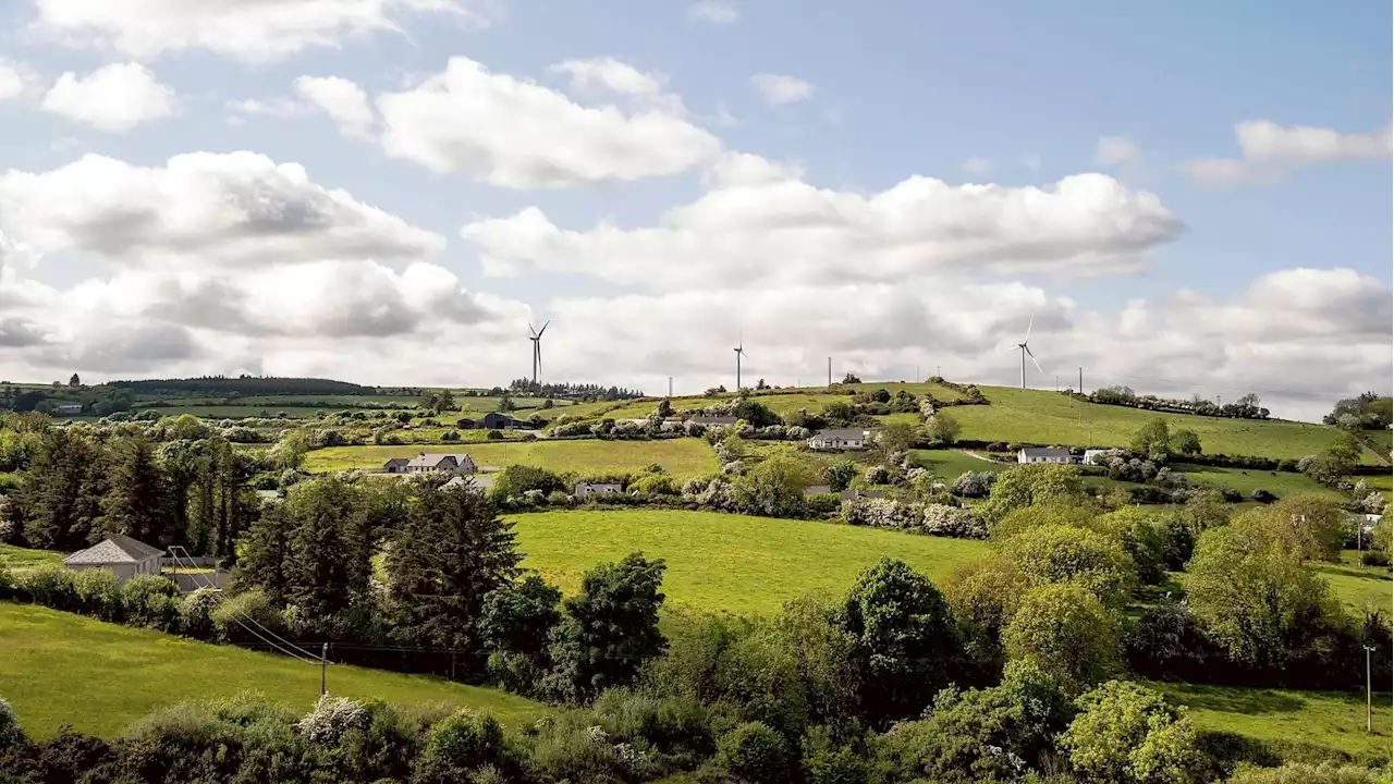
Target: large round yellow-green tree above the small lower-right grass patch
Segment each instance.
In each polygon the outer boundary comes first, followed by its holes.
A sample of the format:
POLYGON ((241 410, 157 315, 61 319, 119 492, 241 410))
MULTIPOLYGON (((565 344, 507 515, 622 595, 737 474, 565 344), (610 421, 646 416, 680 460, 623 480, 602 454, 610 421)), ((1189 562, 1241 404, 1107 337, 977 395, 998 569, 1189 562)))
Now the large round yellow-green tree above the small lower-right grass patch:
POLYGON ((1281 671, 1327 631, 1335 604, 1301 552, 1263 525, 1207 530, 1186 565, 1192 615, 1228 656, 1281 671))

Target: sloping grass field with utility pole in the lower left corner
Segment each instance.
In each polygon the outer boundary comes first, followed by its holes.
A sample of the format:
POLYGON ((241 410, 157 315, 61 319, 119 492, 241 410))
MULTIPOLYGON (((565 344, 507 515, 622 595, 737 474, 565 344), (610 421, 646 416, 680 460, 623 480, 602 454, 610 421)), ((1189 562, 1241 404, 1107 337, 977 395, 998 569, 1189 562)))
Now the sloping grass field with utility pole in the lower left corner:
MULTIPOLYGON (((343 664, 329 667, 328 684, 335 695, 403 706, 470 706, 514 725, 548 713, 495 689, 343 664)), ((110 737, 162 706, 245 689, 304 710, 319 698, 319 665, 0 603, 0 695, 32 735, 53 735, 60 724, 71 724, 110 737)))

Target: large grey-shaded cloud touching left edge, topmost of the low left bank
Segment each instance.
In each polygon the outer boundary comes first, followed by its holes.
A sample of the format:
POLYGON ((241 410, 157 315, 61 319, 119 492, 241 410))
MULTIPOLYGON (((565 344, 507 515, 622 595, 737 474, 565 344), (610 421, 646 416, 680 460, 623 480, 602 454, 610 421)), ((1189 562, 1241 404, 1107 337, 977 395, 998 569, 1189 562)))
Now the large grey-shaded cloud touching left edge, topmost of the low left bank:
POLYGON ((35 251, 131 266, 252 268, 421 258, 445 239, 251 152, 195 152, 163 166, 100 155, 52 172, 0 174, 0 216, 35 251))

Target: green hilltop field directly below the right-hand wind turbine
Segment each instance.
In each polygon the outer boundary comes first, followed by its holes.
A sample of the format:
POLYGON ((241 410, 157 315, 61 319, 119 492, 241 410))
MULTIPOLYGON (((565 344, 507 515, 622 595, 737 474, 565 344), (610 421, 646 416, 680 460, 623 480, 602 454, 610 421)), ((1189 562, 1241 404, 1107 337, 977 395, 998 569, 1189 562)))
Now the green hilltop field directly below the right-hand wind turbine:
POLYGON ((949 412, 963 425, 962 438, 974 441, 1025 441, 1065 446, 1121 446, 1156 417, 1172 428, 1189 428, 1211 455, 1263 455, 1292 458, 1320 452, 1337 430, 1295 421, 1231 420, 1185 414, 1160 414, 1124 406, 1080 403, 1054 392, 983 386, 990 406, 959 406, 949 412))

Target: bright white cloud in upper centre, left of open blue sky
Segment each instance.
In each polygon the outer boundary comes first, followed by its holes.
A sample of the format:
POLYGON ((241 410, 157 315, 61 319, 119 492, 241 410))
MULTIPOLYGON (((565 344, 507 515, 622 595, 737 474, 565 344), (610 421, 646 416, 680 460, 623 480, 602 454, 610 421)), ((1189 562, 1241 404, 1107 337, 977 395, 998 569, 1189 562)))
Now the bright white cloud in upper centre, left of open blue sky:
POLYGON ((509 188, 676 174, 721 149, 717 137, 662 107, 581 106, 467 57, 406 92, 378 96, 378 110, 389 156, 509 188))

